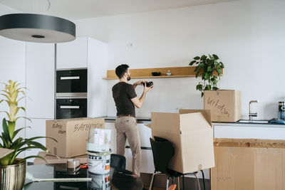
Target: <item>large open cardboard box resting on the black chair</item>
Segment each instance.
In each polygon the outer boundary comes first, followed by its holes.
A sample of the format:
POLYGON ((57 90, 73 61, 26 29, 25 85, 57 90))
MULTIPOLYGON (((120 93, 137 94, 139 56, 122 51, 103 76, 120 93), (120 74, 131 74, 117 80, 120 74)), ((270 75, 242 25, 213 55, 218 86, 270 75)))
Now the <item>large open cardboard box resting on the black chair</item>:
POLYGON ((185 174, 214 167, 213 130, 209 110, 152 112, 151 129, 152 138, 162 137, 175 145, 175 155, 168 165, 170 169, 185 174))

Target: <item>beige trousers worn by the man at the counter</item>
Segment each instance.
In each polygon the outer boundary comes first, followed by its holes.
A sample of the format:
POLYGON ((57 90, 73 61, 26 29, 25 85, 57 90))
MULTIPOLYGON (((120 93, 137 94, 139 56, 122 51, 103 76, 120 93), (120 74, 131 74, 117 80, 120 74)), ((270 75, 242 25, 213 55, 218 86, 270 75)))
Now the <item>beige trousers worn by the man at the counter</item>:
POLYGON ((117 154, 125 155, 125 142, 128 139, 133 155, 133 173, 140 176, 142 150, 140 149, 140 135, 135 117, 118 117, 115 120, 115 129, 117 130, 117 154))

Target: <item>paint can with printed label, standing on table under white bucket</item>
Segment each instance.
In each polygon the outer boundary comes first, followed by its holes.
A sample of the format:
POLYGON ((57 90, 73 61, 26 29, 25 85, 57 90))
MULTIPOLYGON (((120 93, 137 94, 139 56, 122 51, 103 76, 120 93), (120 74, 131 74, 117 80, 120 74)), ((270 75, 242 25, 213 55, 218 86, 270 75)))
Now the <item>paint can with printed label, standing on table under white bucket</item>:
POLYGON ((86 152, 88 154, 88 171, 92 174, 108 174, 110 172, 111 152, 86 152))

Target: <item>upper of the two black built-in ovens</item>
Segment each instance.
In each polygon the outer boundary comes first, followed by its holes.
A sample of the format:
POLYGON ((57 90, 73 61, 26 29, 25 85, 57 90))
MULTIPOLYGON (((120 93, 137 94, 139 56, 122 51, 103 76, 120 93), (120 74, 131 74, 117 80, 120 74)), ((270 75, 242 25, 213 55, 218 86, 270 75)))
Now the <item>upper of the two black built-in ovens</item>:
POLYGON ((87 97, 87 77, 86 68, 56 70, 56 96, 87 97))

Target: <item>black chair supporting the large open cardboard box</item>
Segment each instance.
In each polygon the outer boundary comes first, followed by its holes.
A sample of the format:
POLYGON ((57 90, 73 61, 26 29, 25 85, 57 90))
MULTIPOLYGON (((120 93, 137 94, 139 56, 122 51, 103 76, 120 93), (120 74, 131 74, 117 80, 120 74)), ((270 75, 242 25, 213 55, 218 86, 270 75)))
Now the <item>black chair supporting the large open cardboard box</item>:
MULTIPOLYGON (((152 147, 152 155, 153 155, 153 162, 155 165, 155 173, 152 174, 152 179, 150 181, 150 190, 152 189, 152 184, 153 181, 155 180, 155 175, 157 174, 165 174, 168 176, 167 178, 167 189, 168 189, 168 184, 169 184, 169 179, 170 177, 172 178, 172 184, 175 183, 175 177, 178 177, 178 189, 180 189, 179 186, 179 176, 182 176, 182 184, 183 184, 183 189, 184 189, 184 176, 186 174, 181 174, 178 171, 173 171, 172 169, 167 169, 168 164, 170 162, 170 159, 174 156, 175 153, 175 147, 172 142, 168 141, 167 139, 163 139, 160 137, 154 137, 155 140, 150 138, 150 144, 152 147)), ((197 186, 200 189, 199 186, 199 179, 197 177, 197 172, 194 173, 189 173, 192 175, 195 175, 196 180, 197 180, 197 186)), ((203 174, 204 176, 204 174, 203 174)))

